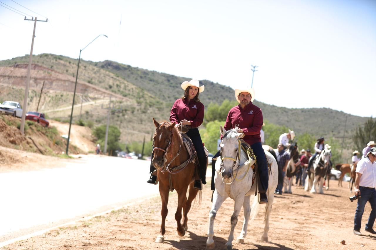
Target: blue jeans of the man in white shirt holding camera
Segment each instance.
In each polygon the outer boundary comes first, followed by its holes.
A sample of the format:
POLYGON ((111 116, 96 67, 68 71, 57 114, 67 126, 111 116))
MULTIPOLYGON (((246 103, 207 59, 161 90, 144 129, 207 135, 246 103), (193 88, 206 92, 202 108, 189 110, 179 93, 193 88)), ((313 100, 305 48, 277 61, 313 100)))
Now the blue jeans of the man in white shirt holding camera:
POLYGON ((358 207, 356 208, 355 218, 354 218, 354 229, 360 230, 361 223, 362 223, 362 215, 364 213, 364 206, 367 201, 371 204, 371 213, 370 217, 368 217, 368 223, 365 224, 365 229, 371 229, 373 227, 373 223, 376 218, 376 190, 359 187, 360 190, 360 198, 358 199, 358 207))

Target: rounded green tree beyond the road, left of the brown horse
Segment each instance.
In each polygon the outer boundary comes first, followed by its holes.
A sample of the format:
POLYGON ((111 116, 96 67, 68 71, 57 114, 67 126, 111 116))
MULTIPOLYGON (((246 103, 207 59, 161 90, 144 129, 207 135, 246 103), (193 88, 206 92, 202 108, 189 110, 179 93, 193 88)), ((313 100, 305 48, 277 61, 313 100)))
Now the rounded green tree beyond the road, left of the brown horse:
MULTIPOLYGON (((94 129, 94 136, 97 137, 98 143, 101 146, 101 149, 104 149, 105 137, 106 137, 106 125, 100 125, 94 129)), ((108 128, 108 138, 107 138, 107 151, 112 152, 112 155, 115 155, 115 151, 122 151, 120 141, 120 130, 114 125, 110 125, 108 128)))

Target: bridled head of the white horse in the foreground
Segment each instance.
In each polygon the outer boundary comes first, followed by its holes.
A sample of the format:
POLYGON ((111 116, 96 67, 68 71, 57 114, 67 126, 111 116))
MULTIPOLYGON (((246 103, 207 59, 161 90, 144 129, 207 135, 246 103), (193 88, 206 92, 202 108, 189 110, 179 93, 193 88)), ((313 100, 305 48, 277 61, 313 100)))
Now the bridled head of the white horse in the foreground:
MULTIPOLYGON (((229 131, 224 130, 220 126, 220 131, 223 136, 220 144, 221 148, 221 168, 220 172, 224 180, 232 178, 233 169, 235 166, 239 166, 241 160, 241 149, 239 139, 244 137, 243 133, 237 133, 232 129, 229 131)), ((253 161, 250 164, 255 163, 256 158, 253 156, 253 161)), ((228 181, 226 181, 228 182, 228 181)))

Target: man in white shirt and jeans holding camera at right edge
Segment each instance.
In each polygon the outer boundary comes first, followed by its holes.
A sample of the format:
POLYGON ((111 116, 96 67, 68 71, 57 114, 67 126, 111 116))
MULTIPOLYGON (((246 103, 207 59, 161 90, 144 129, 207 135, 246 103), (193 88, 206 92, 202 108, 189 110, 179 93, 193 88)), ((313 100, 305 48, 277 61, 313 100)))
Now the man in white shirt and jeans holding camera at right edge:
POLYGON ((371 213, 368 223, 365 224, 367 232, 376 234, 373 230, 373 223, 376 218, 376 148, 371 148, 365 158, 356 166, 355 196, 358 197, 358 206, 354 218, 354 234, 362 235, 360 232, 364 206, 367 201, 371 204, 371 213))

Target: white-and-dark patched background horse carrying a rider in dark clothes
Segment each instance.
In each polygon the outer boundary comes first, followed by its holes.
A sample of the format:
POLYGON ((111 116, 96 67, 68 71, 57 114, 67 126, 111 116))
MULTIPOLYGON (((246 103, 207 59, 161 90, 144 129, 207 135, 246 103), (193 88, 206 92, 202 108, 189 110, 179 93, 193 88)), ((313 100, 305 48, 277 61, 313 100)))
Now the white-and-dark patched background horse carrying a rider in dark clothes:
POLYGON ((325 181, 325 175, 329 167, 329 158, 331 157, 331 149, 324 149, 321 154, 314 160, 310 172, 307 175, 305 181, 304 190, 311 189, 311 193, 317 193, 317 187, 319 193, 323 194, 323 185, 325 181))

